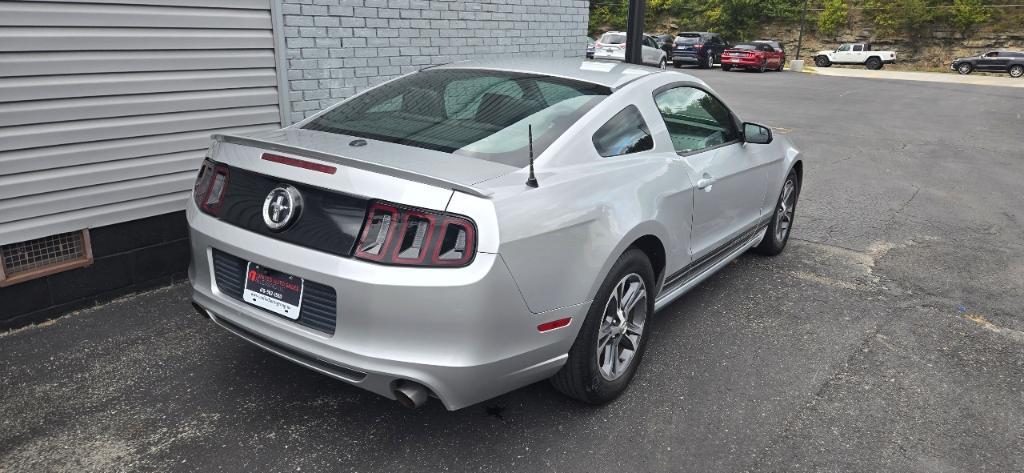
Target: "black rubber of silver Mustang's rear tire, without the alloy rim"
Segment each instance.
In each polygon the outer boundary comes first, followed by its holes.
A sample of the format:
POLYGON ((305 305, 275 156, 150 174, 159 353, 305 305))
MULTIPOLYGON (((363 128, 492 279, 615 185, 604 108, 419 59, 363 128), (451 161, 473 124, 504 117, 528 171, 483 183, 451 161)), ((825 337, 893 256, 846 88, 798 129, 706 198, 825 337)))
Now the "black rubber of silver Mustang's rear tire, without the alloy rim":
MULTIPOLYGON (((630 380, 636 374, 637 367, 643 359, 647 341, 650 339, 650 324, 654 313, 654 270, 647 256, 636 248, 631 248, 618 257, 608 271, 608 276, 597 291, 597 297, 591 303, 587 318, 580 328, 572 348, 569 349, 565 365, 551 378, 551 384, 561 393, 590 404, 608 402, 626 391, 630 380), (613 380, 608 380, 598 367, 598 332, 605 319, 605 308, 610 303, 611 293, 624 278, 633 274, 643 280, 646 297, 646 313, 639 344, 628 361, 625 372, 613 380)), ((640 302, 637 302, 639 307, 640 302)), ((617 342, 616 342, 617 343, 617 342)))

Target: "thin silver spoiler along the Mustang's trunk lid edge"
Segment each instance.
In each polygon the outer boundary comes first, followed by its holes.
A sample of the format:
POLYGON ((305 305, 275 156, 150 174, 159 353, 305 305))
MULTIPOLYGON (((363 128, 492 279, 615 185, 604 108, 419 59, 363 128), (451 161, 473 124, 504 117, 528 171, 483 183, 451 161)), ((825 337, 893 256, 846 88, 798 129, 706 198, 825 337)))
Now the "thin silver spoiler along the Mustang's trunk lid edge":
POLYGON ((225 135, 220 133, 214 134, 210 136, 210 138, 213 139, 214 141, 219 141, 223 143, 241 144, 243 146, 259 147, 262 149, 289 153, 293 155, 303 156, 306 158, 312 158, 315 160, 328 161, 349 168, 376 172, 378 174, 384 174, 387 176, 397 177, 399 179, 411 180, 414 182, 420 182, 428 185, 433 185, 436 187, 451 188, 453 190, 458 190, 463 193, 468 193, 470 196, 476 196, 478 198, 483 198, 483 199, 489 199, 490 196, 494 193, 486 189, 473 187, 472 185, 466 185, 461 182, 456 182, 441 177, 429 176, 426 174, 412 172, 404 169, 394 168, 391 166, 384 166, 378 163, 371 163, 369 161, 360 161, 344 156, 334 155, 331 153, 324 153, 315 149, 307 149, 301 146, 293 146, 291 144, 267 141, 259 138, 250 138, 247 136, 225 135))

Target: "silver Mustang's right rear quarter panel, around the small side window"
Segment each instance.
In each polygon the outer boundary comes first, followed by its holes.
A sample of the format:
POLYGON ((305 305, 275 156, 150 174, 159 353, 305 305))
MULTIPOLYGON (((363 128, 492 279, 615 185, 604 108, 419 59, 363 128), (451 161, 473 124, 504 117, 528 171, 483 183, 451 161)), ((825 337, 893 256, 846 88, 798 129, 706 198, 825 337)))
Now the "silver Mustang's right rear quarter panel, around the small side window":
POLYGON ((652 76, 605 99, 539 157, 538 188, 525 186, 526 170, 485 183, 495 192, 500 253, 530 311, 589 302, 618 256, 646 234, 665 247, 669 272, 689 262, 693 179, 651 95, 680 75, 652 76), (594 133, 630 104, 654 148, 602 158, 594 133))

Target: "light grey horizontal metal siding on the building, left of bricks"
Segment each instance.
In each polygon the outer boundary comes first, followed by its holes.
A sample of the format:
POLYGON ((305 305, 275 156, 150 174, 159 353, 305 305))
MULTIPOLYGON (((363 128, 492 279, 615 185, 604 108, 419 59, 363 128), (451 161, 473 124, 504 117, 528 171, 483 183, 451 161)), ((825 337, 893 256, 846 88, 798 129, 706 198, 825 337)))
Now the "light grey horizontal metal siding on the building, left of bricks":
POLYGON ((270 0, 0 0, 0 244, 180 210, 282 124, 270 0))

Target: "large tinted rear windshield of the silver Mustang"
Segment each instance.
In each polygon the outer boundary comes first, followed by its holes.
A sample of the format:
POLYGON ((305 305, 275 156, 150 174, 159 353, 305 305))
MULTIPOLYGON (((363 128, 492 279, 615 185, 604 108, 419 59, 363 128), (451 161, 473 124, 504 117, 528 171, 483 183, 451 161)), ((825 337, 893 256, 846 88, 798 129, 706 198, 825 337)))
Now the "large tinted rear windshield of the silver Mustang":
POLYGON ((357 95, 304 129, 454 153, 513 166, 544 152, 611 93, 607 87, 504 71, 423 71, 357 95))

